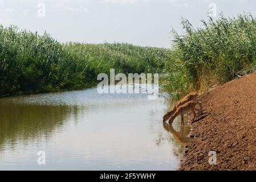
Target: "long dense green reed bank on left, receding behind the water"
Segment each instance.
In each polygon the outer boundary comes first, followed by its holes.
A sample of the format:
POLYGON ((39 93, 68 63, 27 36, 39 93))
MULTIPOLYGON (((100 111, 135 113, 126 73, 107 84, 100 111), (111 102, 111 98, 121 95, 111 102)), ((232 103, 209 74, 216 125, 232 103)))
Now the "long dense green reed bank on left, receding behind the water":
POLYGON ((126 43, 62 44, 50 35, 0 26, 0 96, 83 89, 99 73, 161 73, 168 49, 126 43))

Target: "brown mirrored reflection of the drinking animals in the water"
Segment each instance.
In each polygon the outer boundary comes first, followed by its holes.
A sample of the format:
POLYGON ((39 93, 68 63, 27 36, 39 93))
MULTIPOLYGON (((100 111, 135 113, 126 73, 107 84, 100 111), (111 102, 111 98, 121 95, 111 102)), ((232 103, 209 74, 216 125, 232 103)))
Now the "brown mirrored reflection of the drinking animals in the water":
POLYGON ((173 138, 182 146, 186 146, 189 143, 190 138, 188 135, 190 133, 190 127, 180 126, 180 131, 176 131, 172 125, 168 125, 166 122, 163 123, 163 126, 166 131, 173 134, 173 138))

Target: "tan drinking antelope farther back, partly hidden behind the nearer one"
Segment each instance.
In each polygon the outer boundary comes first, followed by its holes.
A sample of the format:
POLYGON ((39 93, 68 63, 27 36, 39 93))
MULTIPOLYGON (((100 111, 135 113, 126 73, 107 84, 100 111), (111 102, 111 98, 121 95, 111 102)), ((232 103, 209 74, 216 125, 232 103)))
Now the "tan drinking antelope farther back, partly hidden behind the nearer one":
POLYGON ((172 107, 172 109, 170 111, 168 111, 168 113, 166 113, 164 115, 164 117, 162 117, 162 121, 163 122, 167 121, 175 113, 178 106, 181 106, 189 101, 196 101, 197 96, 198 96, 198 93, 192 92, 192 93, 189 93, 188 95, 186 95, 181 100, 177 101, 176 104, 172 107))

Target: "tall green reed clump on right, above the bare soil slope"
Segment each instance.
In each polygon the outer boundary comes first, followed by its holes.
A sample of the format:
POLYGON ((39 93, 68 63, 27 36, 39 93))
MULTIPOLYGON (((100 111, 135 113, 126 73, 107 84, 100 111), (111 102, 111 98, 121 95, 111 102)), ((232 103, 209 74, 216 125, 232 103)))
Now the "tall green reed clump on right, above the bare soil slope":
POLYGON ((164 85, 176 95, 205 91, 237 77, 239 71, 255 71, 256 20, 253 16, 225 18, 221 15, 217 20, 209 18, 201 22, 204 27, 194 29, 184 19, 185 35, 173 31, 172 56, 165 64, 164 85))

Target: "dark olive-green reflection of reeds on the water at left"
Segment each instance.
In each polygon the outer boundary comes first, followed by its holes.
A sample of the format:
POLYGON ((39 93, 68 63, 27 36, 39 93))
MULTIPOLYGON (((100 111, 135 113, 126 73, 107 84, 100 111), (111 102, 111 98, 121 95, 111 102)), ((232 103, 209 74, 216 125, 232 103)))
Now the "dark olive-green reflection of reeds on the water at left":
POLYGON ((56 129, 64 127, 67 117, 76 117, 76 107, 0 105, 0 150, 5 146, 48 140, 56 129))

